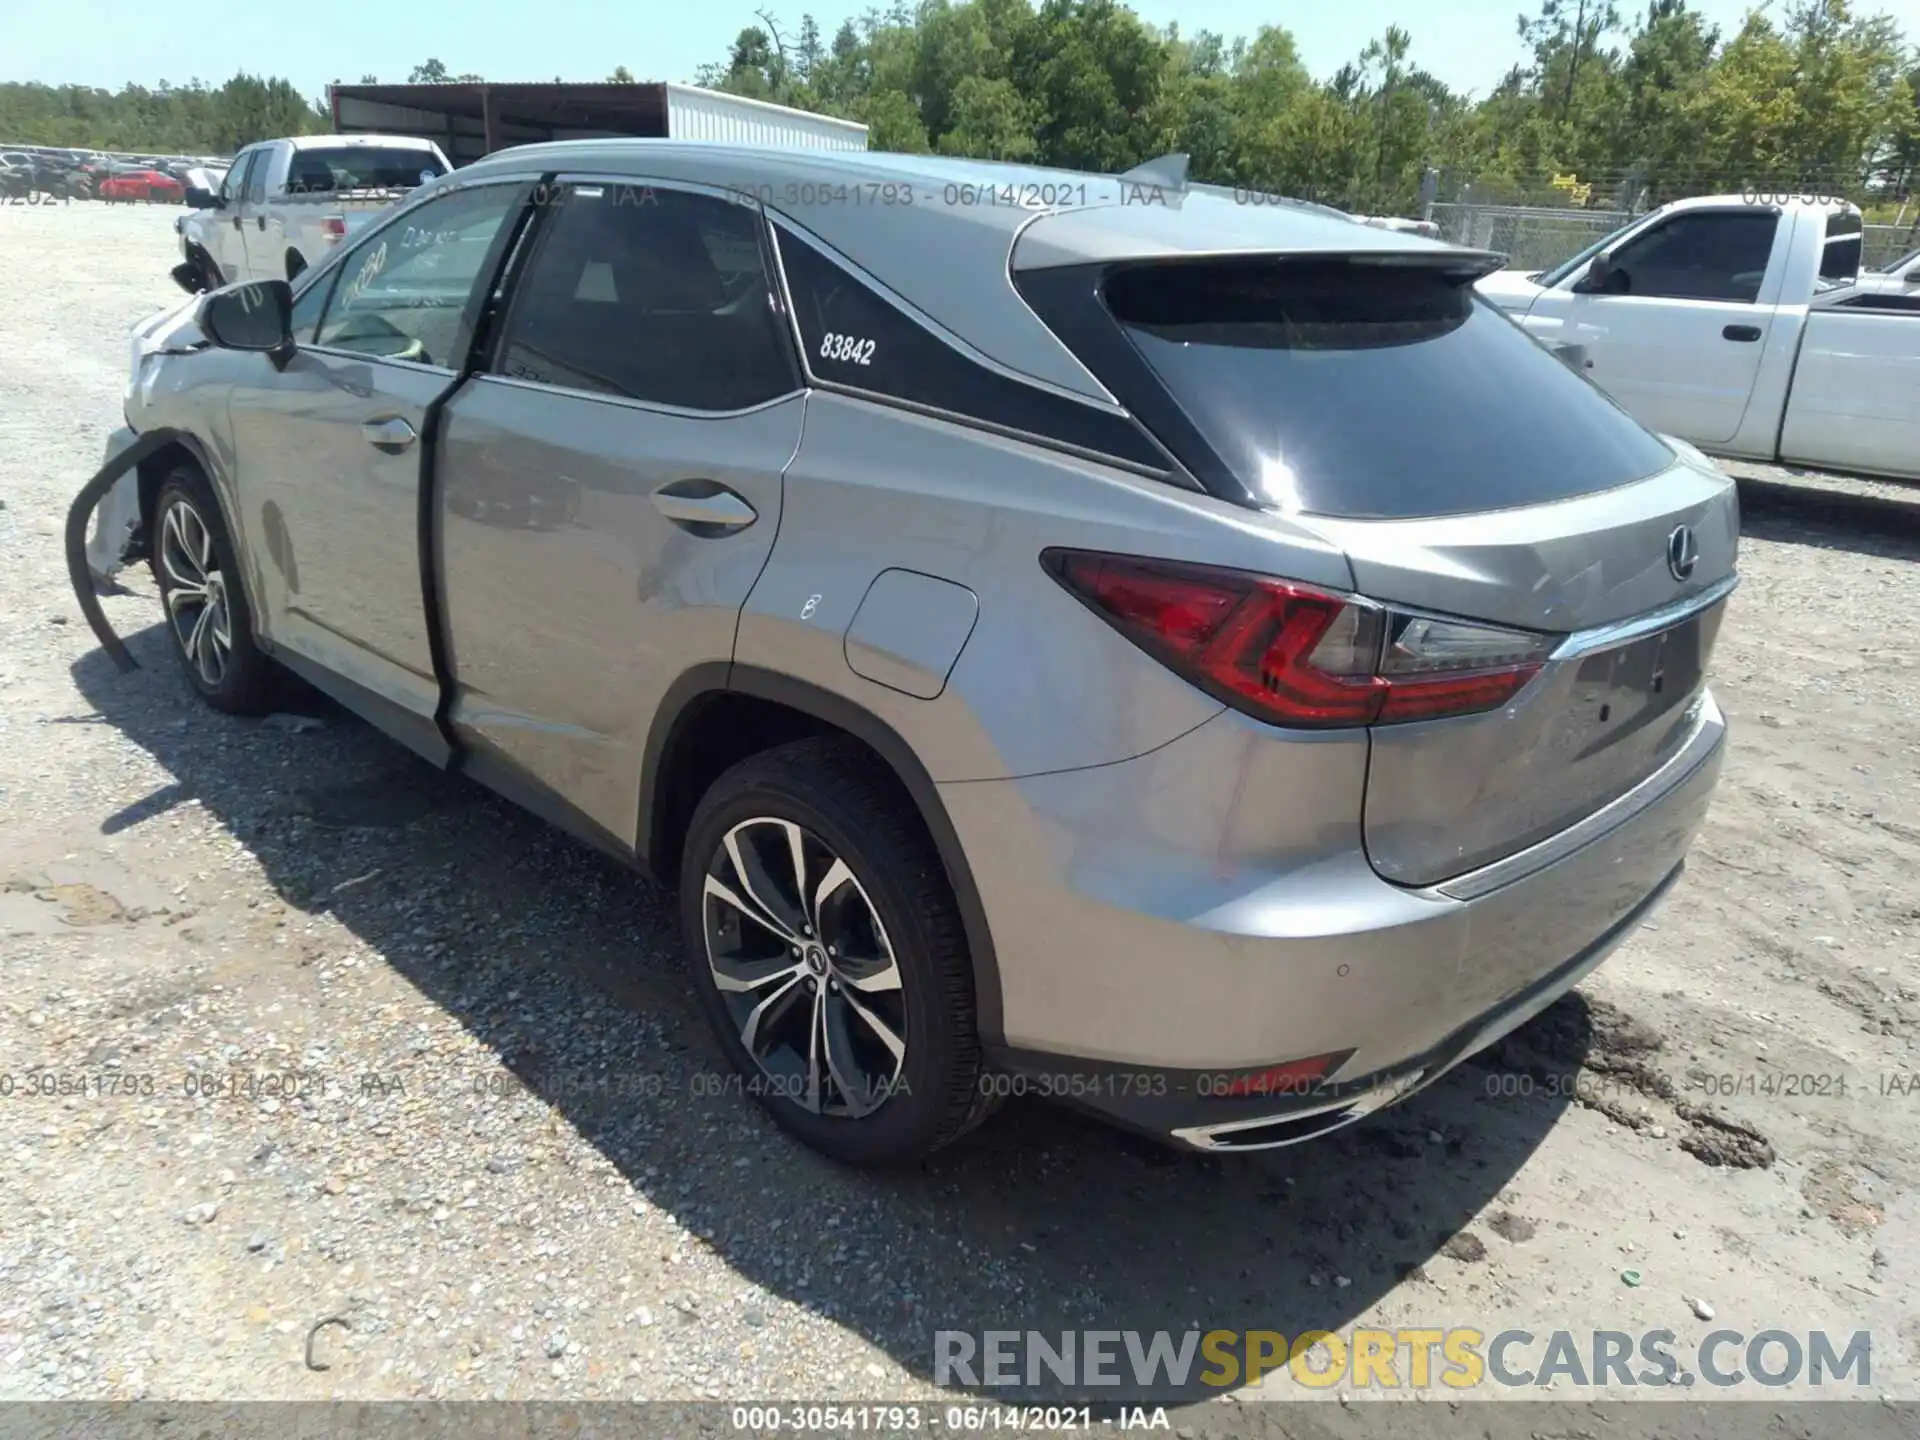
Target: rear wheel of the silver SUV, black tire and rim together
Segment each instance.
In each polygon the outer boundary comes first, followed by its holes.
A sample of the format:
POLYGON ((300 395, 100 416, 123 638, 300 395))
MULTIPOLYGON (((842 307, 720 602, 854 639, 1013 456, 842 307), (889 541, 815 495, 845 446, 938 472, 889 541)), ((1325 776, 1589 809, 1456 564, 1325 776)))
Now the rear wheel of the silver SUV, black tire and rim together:
POLYGON ((747 1092, 812 1148, 920 1160, 989 1110, 947 872, 866 747, 806 739, 722 774, 687 831, 680 924, 747 1092))

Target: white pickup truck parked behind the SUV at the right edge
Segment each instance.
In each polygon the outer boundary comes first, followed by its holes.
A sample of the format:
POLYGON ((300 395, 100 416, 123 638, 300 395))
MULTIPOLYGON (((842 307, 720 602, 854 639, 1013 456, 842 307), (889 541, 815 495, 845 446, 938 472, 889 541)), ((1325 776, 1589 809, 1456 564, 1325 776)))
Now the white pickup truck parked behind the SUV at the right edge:
POLYGON ((1642 424, 1728 457, 1920 478, 1920 267, 1860 275, 1837 200, 1678 200, 1480 292, 1642 424))

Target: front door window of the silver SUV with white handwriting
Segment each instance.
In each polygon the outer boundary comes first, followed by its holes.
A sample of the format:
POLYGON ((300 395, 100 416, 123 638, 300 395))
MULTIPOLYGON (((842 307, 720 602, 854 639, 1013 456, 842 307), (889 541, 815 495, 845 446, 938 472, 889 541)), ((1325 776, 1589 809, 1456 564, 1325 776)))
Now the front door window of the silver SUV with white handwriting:
POLYGON ((415 365, 457 365, 467 298, 522 196, 518 184, 455 190, 361 240, 330 267, 340 278, 313 344, 415 365))

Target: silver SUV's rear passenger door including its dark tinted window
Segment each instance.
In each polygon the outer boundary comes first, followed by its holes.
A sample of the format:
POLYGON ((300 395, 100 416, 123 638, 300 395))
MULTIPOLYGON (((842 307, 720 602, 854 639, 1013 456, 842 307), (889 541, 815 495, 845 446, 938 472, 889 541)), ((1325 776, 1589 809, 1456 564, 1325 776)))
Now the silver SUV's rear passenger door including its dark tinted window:
POLYGON ((660 699, 732 659, 780 528, 806 401, 770 273, 753 205, 564 179, 447 405, 451 724, 478 772, 624 843, 660 699))

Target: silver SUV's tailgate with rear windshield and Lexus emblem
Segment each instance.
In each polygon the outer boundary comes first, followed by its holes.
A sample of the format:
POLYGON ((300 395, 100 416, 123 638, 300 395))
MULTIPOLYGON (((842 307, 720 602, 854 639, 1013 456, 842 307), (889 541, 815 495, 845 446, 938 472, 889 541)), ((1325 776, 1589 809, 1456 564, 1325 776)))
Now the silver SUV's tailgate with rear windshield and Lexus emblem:
POLYGON ((1450 643, 1494 670, 1544 659, 1500 708, 1373 726, 1369 858, 1432 885, 1688 747, 1738 511, 1469 280, 1367 259, 1133 267, 1104 290, 1210 451, 1390 607, 1382 666, 1471 682, 1450 643), (1423 639, 1423 616, 1513 634, 1423 639))

